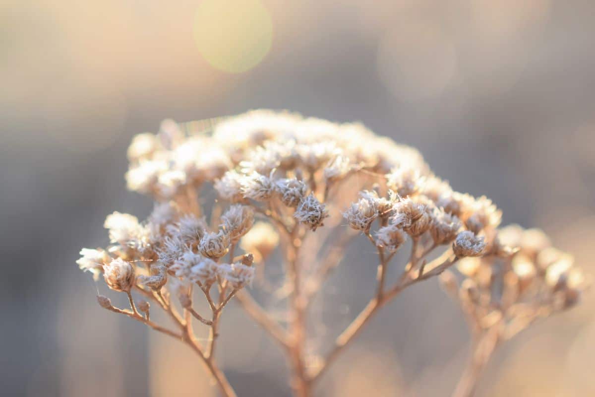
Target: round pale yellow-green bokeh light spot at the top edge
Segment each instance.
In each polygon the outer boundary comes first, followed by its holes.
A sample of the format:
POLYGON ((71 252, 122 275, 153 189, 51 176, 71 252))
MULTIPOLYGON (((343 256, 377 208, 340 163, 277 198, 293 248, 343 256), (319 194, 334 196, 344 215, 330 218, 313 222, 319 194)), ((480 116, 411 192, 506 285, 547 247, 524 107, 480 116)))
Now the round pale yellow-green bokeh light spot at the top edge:
POLYGON ((259 0, 205 0, 196 13, 194 37, 209 64, 229 73, 258 65, 273 42, 273 20, 259 0))

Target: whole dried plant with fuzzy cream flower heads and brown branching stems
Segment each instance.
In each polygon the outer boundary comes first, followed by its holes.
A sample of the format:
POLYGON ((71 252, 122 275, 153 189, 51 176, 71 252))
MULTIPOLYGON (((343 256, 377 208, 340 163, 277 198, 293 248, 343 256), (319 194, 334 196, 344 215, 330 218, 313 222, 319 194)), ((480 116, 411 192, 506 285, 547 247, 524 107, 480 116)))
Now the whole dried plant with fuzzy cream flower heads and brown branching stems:
POLYGON ((211 123, 168 120, 156 135, 134 137, 128 157, 128 187, 151 195, 154 211, 143 222, 109 215, 111 245, 83 249, 77 263, 130 303, 120 309, 100 295, 101 307, 189 345, 227 397, 236 394, 215 351, 232 299, 283 349, 290 385, 305 397, 380 308, 442 274, 473 336, 471 364, 455 392, 466 396, 496 345, 574 305, 584 286, 568 255, 547 247, 543 234, 499 230, 501 212, 489 199, 455 192, 415 149, 360 124, 271 111, 211 123), (314 351, 311 303, 358 236, 377 252, 376 289, 334 343, 314 351), (403 246, 411 246, 409 260, 389 282, 403 246), (273 263, 275 252, 281 264, 273 263), (445 273, 457 262, 466 277, 460 288, 454 273, 445 273), (280 286, 265 264, 283 270, 280 286), (286 321, 250 295, 252 285, 283 303, 286 321), (197 295, 208 315, 196 309, 197 295), (155 323, 153 307, 172 324, 155 323), (195 324, 208 327, 205 343, 195 324))

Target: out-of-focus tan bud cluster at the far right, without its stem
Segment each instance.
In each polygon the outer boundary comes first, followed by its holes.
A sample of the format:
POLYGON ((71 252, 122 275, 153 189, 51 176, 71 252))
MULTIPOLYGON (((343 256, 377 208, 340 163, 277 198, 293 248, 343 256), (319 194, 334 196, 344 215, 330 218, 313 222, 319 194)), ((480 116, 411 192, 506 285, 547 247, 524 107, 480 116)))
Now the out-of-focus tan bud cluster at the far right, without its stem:
POLYGON ((462 259, 456 265, 462 281, 444 273, 441 282, 460 302, 472 331, 494 330, 506 340, 577 304, 586 283, 571 255, 553 248, 541 230, 511 225, 498 232, 499 252, 462 259))

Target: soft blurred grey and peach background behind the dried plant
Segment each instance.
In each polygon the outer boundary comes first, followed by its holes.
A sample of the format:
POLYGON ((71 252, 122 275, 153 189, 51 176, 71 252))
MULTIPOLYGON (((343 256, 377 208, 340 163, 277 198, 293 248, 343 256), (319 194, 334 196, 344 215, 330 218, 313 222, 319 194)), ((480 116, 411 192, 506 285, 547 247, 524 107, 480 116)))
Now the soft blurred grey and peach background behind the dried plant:
MULTIPOLYGON (((593 274, 594 12, 590 0, 2 0, 3 394, 214 396, 181 345, 100 310, 105 286, 74 263, 107 244, 105 215, 150 211, 126 191, 126 148, 164 118, 264 107, 362 121, 593 274)), ((331 280, 329 335, 368 299, 373 277, 356 265, 331 280)), ((500 349, 478 394, 595 395, 592 295, 500 349)), ((222 335, 240 396, 288 395, 277 346, 235 305, 222 335)), ((456 304, 423 283, 375 318, 319 393, 449 395, 467 340, 456 304)))

